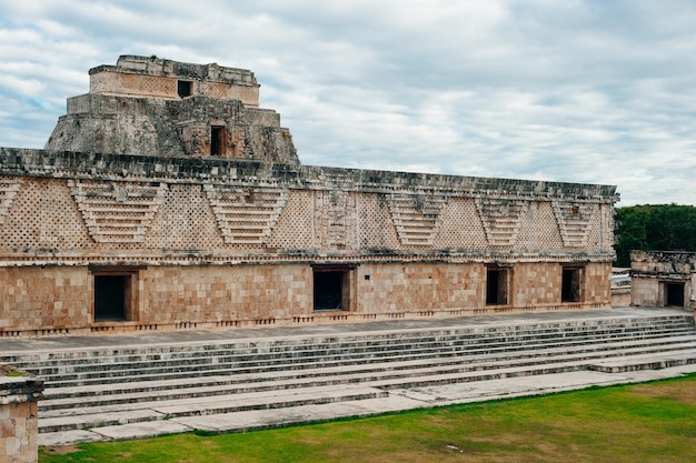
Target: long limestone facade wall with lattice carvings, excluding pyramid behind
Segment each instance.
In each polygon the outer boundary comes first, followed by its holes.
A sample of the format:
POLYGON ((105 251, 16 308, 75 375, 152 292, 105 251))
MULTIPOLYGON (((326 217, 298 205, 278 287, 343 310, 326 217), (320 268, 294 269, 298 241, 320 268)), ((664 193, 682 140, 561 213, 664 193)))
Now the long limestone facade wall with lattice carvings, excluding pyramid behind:
POLYGON ((608 308, 615 200, 601 185, 0 149, 0 334, 608 308), (344 279, 339 315, 315 313, 317 266, 344 279), (490 268, 509 285, 495 304, 490 268), (566 268, 579 293, 561 301, 566 268), (100 275, 127 288, 118 323, 95 319, 100 275))

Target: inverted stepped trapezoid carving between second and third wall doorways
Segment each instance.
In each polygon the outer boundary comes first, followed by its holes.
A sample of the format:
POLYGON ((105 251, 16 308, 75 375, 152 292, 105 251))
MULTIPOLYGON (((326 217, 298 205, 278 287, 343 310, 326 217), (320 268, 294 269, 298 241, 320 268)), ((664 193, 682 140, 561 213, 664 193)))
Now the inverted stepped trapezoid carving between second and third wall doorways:
POLYGON ((401 244, 432 245, 440 213, 448 200, 445 195, 390 195, 389 211, 401 244))

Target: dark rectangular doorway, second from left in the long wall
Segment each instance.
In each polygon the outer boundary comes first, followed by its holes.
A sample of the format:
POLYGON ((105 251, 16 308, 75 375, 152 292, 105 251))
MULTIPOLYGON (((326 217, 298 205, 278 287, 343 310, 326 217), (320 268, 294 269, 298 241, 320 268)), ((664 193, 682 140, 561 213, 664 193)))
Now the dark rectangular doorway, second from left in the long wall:
POLYGON ((314 268, 314 310, 350 310, 352 266, 314 268))

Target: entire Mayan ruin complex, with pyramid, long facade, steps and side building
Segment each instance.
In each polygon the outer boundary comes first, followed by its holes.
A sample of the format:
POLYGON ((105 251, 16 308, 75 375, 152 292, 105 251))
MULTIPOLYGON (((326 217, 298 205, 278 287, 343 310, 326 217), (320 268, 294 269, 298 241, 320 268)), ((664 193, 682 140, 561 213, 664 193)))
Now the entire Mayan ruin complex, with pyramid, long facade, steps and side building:
POLYGON ((2 462, 694 371, 696 256, 613 269, 614 185, 306 165, 251 71, 89 79, 0 148, 2 462))

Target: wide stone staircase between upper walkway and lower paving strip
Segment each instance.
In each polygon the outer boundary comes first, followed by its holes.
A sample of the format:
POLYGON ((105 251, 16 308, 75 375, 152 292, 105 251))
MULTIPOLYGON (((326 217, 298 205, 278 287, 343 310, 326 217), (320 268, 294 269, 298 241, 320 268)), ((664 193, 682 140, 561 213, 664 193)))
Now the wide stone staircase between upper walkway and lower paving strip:
MULTIPOLYGON (((230 332, 233 335, 233 332, 230 332)), ((46 380, 39 432, 378 399, 389 391, 696 363, 690 315, 334 332, 0 354, 46 380)))

